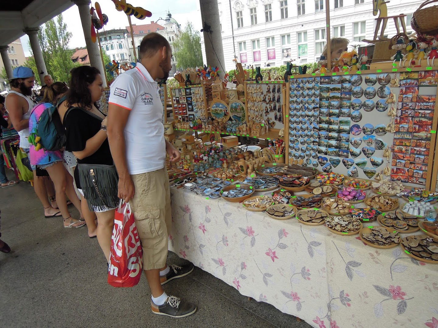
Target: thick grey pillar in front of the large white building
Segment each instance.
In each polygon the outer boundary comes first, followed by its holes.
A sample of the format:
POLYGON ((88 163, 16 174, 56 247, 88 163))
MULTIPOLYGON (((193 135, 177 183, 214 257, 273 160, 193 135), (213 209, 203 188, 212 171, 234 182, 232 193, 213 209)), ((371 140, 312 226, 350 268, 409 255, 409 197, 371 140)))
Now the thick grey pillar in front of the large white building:
POLYGON ((223 59, 222 32, 220 30, 219 7, 217 0, 199 0, 201 6, 202 26, 210 25, 212 33, 204 31, 205 56, 207 65, 219 67, 220 77, 226 74, 223 59), (214 48, 214 49, 213 49, 214 48))

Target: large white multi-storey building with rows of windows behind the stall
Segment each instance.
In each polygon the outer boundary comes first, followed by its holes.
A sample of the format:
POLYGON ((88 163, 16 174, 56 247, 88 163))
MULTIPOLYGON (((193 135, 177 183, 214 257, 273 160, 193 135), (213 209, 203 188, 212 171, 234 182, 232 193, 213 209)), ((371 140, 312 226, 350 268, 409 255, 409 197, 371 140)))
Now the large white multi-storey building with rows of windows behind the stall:
MULTIPOLYGON (((406 29, 423 0, 391 0, 388 16, 406 14, 406 29)), ((327 42, 325 0, 218 0, 226 70, 237 61, 264 67, 318 61, 327 42)), ((330 0, 331 37, 361 41, 374 37, 373 0, 330 0)), ((408 33, 409 34, 409 33, 408 33)), ((392 20, 385 35, 396 35, 392 20)), ((201 33, 204 63, 205 45, 201 33)), ((207 63, 208 64, 208 63, 207 63)))

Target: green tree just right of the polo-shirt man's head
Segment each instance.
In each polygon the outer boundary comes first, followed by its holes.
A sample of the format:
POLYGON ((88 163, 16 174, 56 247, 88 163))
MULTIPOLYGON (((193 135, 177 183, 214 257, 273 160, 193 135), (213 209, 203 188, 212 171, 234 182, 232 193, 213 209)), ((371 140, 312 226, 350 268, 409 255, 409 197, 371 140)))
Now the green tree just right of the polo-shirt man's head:
POLYGON ((178 68, 196 67, 202 65, 201 37, 199 32, 188 22, 184 31, 177 36, 173 43, 178 68))

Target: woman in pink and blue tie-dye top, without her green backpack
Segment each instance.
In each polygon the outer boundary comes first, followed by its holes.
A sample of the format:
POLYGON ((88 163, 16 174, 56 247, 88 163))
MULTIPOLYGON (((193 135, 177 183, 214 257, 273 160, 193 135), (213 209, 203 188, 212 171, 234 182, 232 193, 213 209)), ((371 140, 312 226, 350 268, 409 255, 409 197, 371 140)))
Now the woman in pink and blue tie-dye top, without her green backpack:
MULTIPOLYGON (((57 104, 57 101, 59 101, 67 91, 67 86, 62 82, 54 83, 46 88, 42 102, 32 109, 29 118, 29 131, 31 133, 38 129, 38 121, 41 114, 47 108, 57 104)), ((64 218, 64 228, 79 228, 84 226, 85 222, 74 220, 67 208, 66 194, 71 202, 73 202, 74 206, 76 206, 79 213, 81 213, 82 217, 81 202, 74 191, 73 178, 64 167, 62 153, 59 150, 49 151, 44 148, 37 150, 36 147, 31 144, 29 159, 32 166, 39 167, 49 173, 49 176, 55 185, 57 205, 64 218)))

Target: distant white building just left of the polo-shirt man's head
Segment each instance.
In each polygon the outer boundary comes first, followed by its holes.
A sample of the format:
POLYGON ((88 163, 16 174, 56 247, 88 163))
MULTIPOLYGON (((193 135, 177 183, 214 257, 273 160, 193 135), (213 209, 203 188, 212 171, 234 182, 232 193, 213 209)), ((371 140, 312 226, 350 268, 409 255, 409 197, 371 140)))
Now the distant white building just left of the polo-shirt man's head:
MULTIPOLYGON (((131 63, 129 55, 129 46, 127 42, 128 31, 125 28, 113 29, 99 33, 100 46, 102 51, 106 52, 111 60, 115 60, 120 64, 131 63)), ((106 65, 107 63, 105 63, 106 65)))

